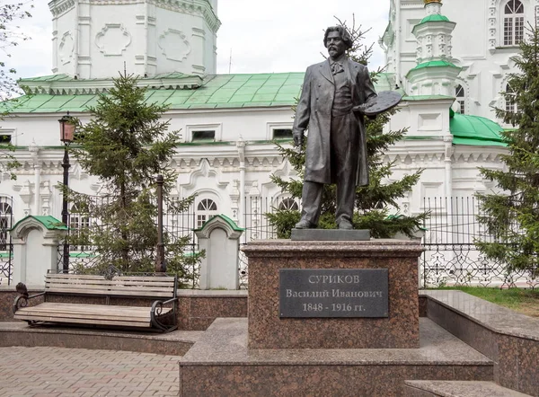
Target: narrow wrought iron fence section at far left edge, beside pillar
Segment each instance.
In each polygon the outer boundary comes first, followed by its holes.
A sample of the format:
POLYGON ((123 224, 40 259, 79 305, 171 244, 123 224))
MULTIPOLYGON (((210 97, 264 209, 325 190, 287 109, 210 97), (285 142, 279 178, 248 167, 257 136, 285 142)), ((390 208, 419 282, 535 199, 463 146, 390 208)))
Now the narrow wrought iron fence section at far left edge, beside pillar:
POLYGON ((13 279, 13 199, 0 196, 0 286, 9 286, 13 279))

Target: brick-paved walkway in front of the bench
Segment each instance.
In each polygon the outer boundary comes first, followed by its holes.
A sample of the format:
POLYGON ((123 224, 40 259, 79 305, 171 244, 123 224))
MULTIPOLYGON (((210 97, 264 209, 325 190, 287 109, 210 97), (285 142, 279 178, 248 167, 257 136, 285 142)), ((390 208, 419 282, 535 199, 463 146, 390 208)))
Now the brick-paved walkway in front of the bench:
POLYGON ((0 396, 177 396, 179 360, 114 350, 0 348, 0 396))

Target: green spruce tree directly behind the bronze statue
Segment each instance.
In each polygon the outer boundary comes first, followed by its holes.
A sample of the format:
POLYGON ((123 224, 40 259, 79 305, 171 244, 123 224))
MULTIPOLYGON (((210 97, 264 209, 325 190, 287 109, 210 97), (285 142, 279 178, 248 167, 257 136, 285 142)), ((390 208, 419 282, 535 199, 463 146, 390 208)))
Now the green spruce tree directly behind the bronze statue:
MULTIPOLYGON (((350 59, 367 65, 368 59, 372 56, 373 45, 365 46, 362 43, 366 31, 361 31, 361 26, 356 27, 355 21, 351 29, 346 26, 346 22, 339 23, 348 29, 353 40, 352 48, 348 51, 350 59)), ((382 72, 377 70, 371 73, 373 83, 376 77, 382 72)), ((367 154, 369 163, 369 180, 366 187, 358 187, 356 190, 356 210, 354 212, 353 224, 356 229, 370 229, 371 235, 375 238, 390 238, 394 234, 402 233, 412 236, 422 225, 427 213, 417 216, 399 215, 398 199, 404 197, 411 188, 419 181, 421 172, 418 170, 405 175, 400 181, 384 183, 392 175, 394 163, 384 163, 384 153, 389 146, 404 137, 406 128, 398 131, 384 132, 384 125, 397 110, 389 110, 376 116, 376 119, 367 119, 367 154)), ((289 181, 272 175, 271 180, 278 185, 283 192, 292 198, 301 199, 303 190, 303 180, 305 175, 305 149, 306 140, 301 147, 289 147, 276 143, 278 152, 290 163, 297 173, 297 178, 289 181)), ((320 216, 319 228, 336 228, 336 189, 335 185, 324 185, 322 214, 320 216)), ((267 214, 270 224, 273 225, 278 234, 278 238, 289 238, 292 228, 300 219, 300 212, 297 210, 274 208, 274 212, 267 214)))

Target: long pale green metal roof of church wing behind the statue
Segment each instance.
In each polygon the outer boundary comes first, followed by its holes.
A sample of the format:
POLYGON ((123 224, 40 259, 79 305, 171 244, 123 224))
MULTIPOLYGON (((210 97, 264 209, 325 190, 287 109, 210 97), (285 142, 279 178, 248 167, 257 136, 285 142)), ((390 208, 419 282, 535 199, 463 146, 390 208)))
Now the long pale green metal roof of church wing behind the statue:
MULTIPOLYGON (((169 105, 171 110, 187 109, 236 109, 256 107, 292 106, 299 97, 305 73, 276 73, 256 75, 209 75, 196 89, 149 88, 146 101, 169 105)), ((190 75, 169 74, 155 76, 153 80, 190 78, 190 75)), ((391 75, 380 74, 380 86, 391 84, 391 75)), ((143 79, 141 79, 143 80, 143 79)), ((66 75, 49 75, 22 80, 50 83, 62 81, 87 84, 88 80, 75 80, 66 75)), ((378 84, 375 84, 376 86, 378 84)), ((383 89, 386 89, 385 87, 383 89)), ((13 113, 65 113, 83 112, 97 104, 96 93, 48 94, 34 93, 17 99, 10 104, 13 113)))

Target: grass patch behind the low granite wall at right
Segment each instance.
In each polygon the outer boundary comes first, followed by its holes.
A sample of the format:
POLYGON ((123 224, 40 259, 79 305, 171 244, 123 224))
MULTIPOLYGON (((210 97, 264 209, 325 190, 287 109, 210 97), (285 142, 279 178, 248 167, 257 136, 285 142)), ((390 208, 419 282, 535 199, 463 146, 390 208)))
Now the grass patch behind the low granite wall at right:
POLYGON ((539 290, 536 289, 489 287, 439 287, 433 289, 458 289, 493 304, 508 307, 515 312, 539 317, 539 290))

